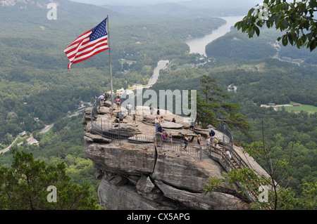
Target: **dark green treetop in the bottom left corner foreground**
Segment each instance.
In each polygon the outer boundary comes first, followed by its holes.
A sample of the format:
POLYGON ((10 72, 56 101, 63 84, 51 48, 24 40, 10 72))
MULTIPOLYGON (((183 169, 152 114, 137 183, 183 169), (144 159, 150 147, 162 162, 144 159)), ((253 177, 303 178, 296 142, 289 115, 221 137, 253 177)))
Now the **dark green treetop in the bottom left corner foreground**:
POLYGON ((97 209, 97 200, 89 195, 89 185, 69 181, 65 164, 45 165, 32 154, 14 150, 11 169, 0 167, 1 209, 97 209), (48 202, 49 186, 56 187, 57 202, 48 202))

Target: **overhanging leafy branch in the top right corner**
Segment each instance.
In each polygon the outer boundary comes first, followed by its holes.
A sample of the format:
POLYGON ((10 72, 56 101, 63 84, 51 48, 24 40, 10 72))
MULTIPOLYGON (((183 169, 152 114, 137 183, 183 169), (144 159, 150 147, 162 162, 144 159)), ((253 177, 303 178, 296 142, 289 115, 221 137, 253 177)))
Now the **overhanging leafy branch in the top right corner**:
POLYGON ((247 16, 237 22, 235 27, 247 33, 250 38, 254 37, 254 34, 259 36, 260 28, 264 25, 268 28, 275 27, 283 32, 282 36, 278 37, 283 46, 306 46, 313 51, 317 46, 316 20, 313 18, 316 6, 315 0, 265 0, 263 6, 251 8, 247 16))

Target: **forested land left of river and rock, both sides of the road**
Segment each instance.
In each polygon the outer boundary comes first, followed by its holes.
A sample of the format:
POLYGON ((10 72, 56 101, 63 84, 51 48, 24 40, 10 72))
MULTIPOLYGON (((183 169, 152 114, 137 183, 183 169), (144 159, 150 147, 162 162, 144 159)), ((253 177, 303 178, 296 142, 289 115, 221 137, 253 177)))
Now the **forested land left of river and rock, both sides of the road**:
MULTIPOLYGON (((92 162, 82 157, 81 117, 66 118, 81 102, 110 90, 108 51, 67 70, 63 53, 80 34, 109 15, 113 88, 147 84, 160 58, 189 51, 182 42, 191 35, 211 32, 225 21, 219 18, 123 15, 108 8, 56 0, 57 19, 49 20, 50 1, 1 1, 0 3, 0 150, 23 131, 26 139, 13 147, 32 152, 48 164, 66 162, 75 183, 89 182, 96 196, 97 181, 92 162), (121 61, 132 62, 126 67, 121 61), (46 134, 39 131, 54 123, 46 134)), ((11 164, 11 152, 0 156, 11 164)))

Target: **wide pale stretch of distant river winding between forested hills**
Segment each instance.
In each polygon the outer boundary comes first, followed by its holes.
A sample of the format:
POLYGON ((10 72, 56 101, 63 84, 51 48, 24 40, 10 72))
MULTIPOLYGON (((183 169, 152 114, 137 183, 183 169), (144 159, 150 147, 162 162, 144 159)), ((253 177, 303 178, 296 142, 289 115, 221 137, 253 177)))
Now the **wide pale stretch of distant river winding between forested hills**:
POLYGON ((225 25, 222 25, 218 29, 213 30, 211 34, 207 34, 204 37, 189 39, 185 41, 185 43, 189 46, 189 53, 199 53, 201 55, 206 55, 206 45, 214 41, 215 39, 222 37, 226 33, 230 32, 230 27, 235 25, 236 22, 242 20, 244 15, 239 16, 228 16, 228 17, 220 17, 221 19, 227 21, 225 25))

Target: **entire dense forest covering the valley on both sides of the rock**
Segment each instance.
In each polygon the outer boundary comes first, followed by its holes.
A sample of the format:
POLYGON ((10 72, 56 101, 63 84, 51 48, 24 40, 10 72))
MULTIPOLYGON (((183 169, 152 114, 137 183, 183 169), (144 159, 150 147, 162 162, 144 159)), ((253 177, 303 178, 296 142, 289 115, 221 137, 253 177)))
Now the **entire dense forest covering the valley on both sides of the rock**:
MULTIPOLYGON (((159 15, 126 15, 106 8, 63 1, 58 20, 47 20, 47 10, 35 5, 2 7, 0 14, 0 150, 22 131, 39 145, 23 140, 14 148, 32 152, 47 164, 66 164, 73 183, 91 185, 97 197, 98 182, 92 162, 82 156, 82 114, 67 118, 82 102, 109 91, 108 51, 67 70, 63 53, 80 34, 109 14, 113 88, 147 84, 161 59, 170 60, 161 70, 155 91, 199 90, 208 74, 227 91, 230 103, 239 103, 252 126, 252 139, 235 131, 237 145, 261 141, 262 130, 273 156, 287 157, 293 149, 290 186, 300 194, 304 183, 317 181, 317 113, 275 111, 261 104, 292 102, 317 106, 316 53, 290 46, 278 48, 276 33, 266 30, 249 39, 235 30, 206 46, 208 58, 189 53, 188 37, 200 37, 225 22, 220 18, 175 18, 159 15), (89 10, 92 13, 85 13, 89 10), (32 16, 31 16, 32 15, 32 16), (71 22, 70 22, 71 21, 71 22), (301 59, 300 65, 273 58, 301 59), (204 65, 199 63, 204 62, 204 65), (192 68, 184 68, 184 65, 192 68), (35 119, 38 118, 38 119, 35 119), (262 126, 262 121, 263 125, 262 126), (54 127, 39 133, 47 124, 54 127)), ((281 46, 281 44, 280 44, 281 46)), ((0 155, 0 165, 10 166, 12 151, 0 155)), ((259 161, 261 163, 261 161, 259 161)), ((263 164, 264 166, 265 164, 263 164)), ((287 184, 286 182, 283 184, 287 184)))

